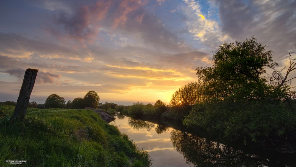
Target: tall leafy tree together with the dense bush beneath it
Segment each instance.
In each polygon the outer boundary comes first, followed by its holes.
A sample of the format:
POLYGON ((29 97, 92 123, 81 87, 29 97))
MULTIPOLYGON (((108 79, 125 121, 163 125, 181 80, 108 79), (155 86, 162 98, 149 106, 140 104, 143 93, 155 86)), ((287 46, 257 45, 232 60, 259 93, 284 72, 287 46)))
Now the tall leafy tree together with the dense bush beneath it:
MULTIPOLYGON (((184 124, 221 132, 227 139, 292 143, 296 132, 296 100, 284 77, 263 77, 275 70, 272 51, 252 37, 244 42, 224 43, 213 54, 213 67, 198 67, 203 100, 194 105, 184 124)), ((290 58, 290 67, 293 67, 290 58)), ((287 73, 288 74, 288 73, 287 73)), ((281 146, 286 147, 286 146, 281 146)))

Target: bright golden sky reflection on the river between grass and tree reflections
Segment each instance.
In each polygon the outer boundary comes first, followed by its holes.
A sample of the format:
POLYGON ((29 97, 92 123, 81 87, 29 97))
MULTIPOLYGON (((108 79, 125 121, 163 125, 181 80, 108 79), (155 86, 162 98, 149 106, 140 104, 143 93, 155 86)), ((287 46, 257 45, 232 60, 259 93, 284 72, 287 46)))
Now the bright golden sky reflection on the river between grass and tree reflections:
POLYGON ((140 149, 145 149, 151 155, 154 160, 152 166, 157 167, 171 167, 171 166, 189 166, 184 162, 184 157, 177 152, 170 140, 170 132, 173 128, 168 128, 166 132, 157 134, 155 128, 156 124, 152 124, 150 131, 145 128, 133 128, 128 124, 129 117, 124 119, 116 119, 112 124, 116 125, 121 133, 126 133, 132 139, 140 149), (155 127, 153 127, 155 125, 155 127))

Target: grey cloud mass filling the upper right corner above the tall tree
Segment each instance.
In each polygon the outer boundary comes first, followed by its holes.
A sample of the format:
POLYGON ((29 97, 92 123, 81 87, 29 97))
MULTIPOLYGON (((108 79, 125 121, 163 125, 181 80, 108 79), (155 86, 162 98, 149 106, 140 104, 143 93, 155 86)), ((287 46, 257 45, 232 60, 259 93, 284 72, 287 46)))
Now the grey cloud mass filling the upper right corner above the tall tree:
POLYGON ((279 61, 296 43, 296 1, 215 1, 222 31, 242 41, 252 35, 279 61))

